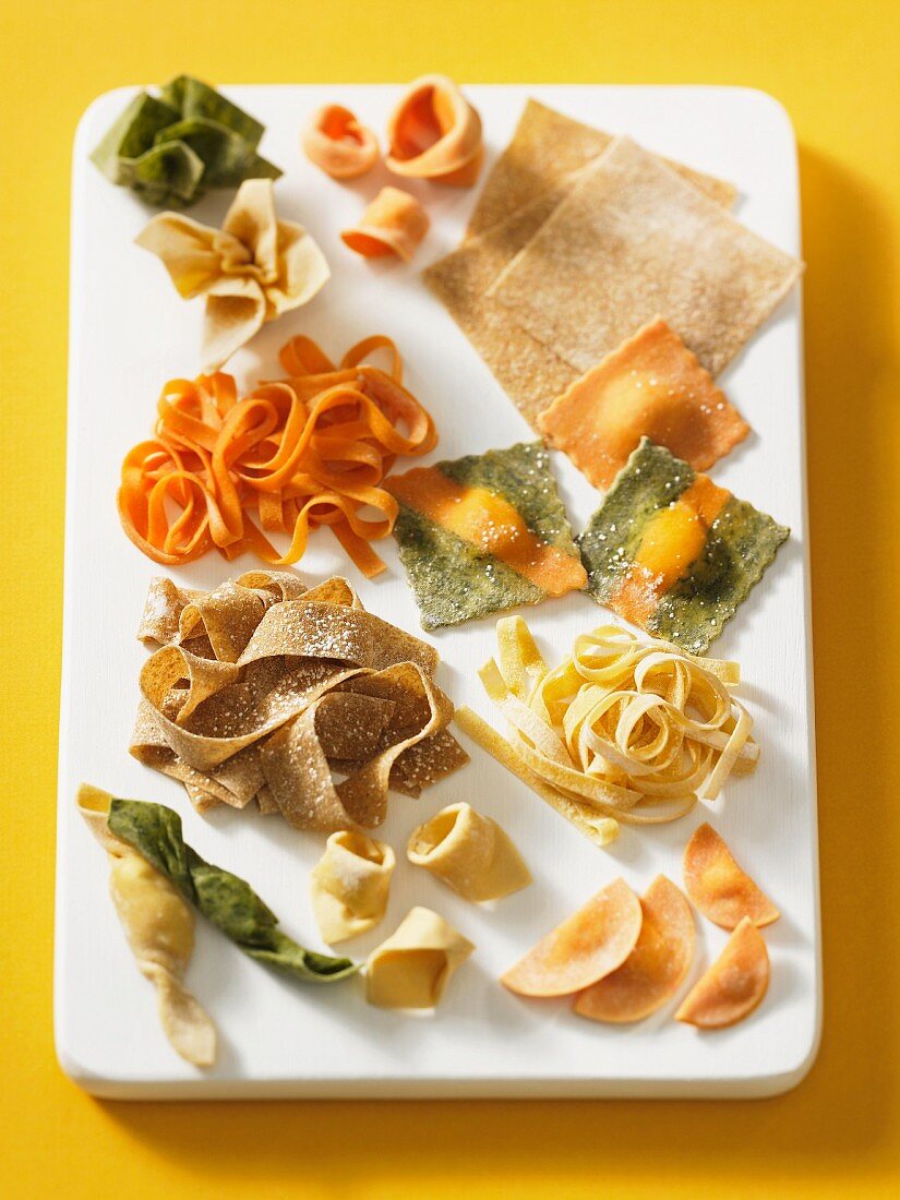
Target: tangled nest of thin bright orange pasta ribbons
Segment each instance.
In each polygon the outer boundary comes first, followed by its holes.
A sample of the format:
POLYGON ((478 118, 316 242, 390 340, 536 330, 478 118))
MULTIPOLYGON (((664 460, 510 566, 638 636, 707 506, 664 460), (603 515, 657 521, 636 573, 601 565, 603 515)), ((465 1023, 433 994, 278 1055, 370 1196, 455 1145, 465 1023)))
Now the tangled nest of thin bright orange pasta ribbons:
POLYGON ((294 337, 281 365, 287 379, 242 400, 221 371, 166 384, 155 437, 126 455, 118 498, 122 528, 148 558, 176 566, 215 547, 286 566, 329 526, 366 576, 384 570, 370 542, 391 532, 397 502, 382 482, 397 457, 437 444, 430 413, 402 385, 400 352, 376 335, 336 366, 294 337), (379 350, 389 371, 366 361, 379 350), (290 538, 284 554, 266 533, 290 538))

